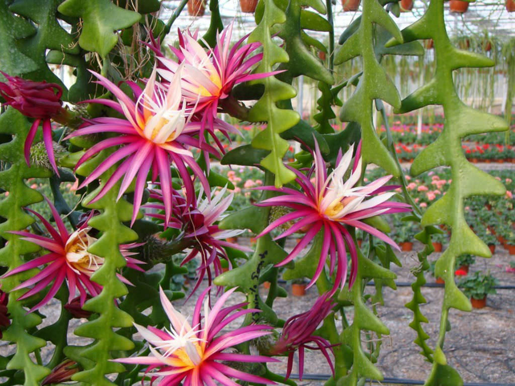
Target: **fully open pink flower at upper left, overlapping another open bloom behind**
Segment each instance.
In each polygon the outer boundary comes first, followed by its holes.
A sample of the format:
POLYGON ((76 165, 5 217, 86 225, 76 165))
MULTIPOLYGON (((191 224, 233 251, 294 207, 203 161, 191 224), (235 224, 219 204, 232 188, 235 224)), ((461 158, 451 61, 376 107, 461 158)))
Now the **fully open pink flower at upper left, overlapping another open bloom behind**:
MULTIPOLYGON (((152 181, 156 181, 159 176, 165 189, 165 213, 169 219, 171 216, 170 165, 174 165, 179 172, 186 188, 188 202, 193 202, 195 188, 186 166, 192 169, 204 189, 209 191, 207 178, 200 166, 197 165, 191 151, 187 149, 188 146, 198 146, 198 140, 194 139, 192 135, 198 134, 199 125, 188 122, 186 119, 186 107, 182 103, 179 86, 181 72, 177 72, 166 93, 156 82, 156 68, 143 91, 135 83, 127 82, 136 97, 136 102, 108 79, 99 74, 93 74, 99 79, 99 84, 113 93, 117 101, 93 99, 87 102, 105 104, 123 114, 125 119, 95 118, 89 121, 91 126, 81 128, 67 137, 105 132, 120 134, 100 141, 88 149, 77 162, 76 168, 101 150, 121 146, 100 163, 80 184, 79 188, 87 186, 117 162, 124 160, 90 203, 104 197, 107 191, 124 177, 118 191, 119 199, 135 179, 134 209, 131 221, 133 224, 138 216, 143 191, 147 186, 148 172, 152 169, 152 181)), ((216 149, 208 144, 202 144, 202 149, 219 155, 216 149)))

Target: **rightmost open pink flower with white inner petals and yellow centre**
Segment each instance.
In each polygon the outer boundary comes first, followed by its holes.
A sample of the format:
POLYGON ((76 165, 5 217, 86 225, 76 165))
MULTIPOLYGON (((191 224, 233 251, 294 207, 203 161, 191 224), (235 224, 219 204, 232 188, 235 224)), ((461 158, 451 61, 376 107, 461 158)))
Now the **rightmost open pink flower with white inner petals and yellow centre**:
POLYGON ((344 286, 347 276, 347 250, 345 243, 348 245, 352 259, 349 286, 352 286, 356 278, 357 251, 346 225, 368 232, 392 245, 394 248, 399 249, 395 241, 361 220, 380 214, 408 212, 410 206, 400 202, 388 202, 388 199, 390 199, 395 192, 387 192, 386 194, 379 195, 382 192, 399 187, 393 185, 384 186, 384 184, 390 180, 391 176, 382 177, 365 186, 354 186, 361 177, 361 143, 356 150, 354 164, 352 165, 352 170, 347 181, 344 180, 344 176, 351 166, 354 146, 351 146, 343 156, 340 152, 336 161, 336 167, 328 176, 327 167, 320 153, 318 144, 315 145, 315 165, 307 175, 294 168, 290 168, 297 174, 295 181, 300 185, 300 191, 286 187, 276 188, 274 186, 256 188, 282 193, 281 196, 269 198, 256 205, 283 205, 293 209, 293 212, 270 223, 258 237, 290 221, 295 221, 295 224, 277 236, 276 239, 307 229, 301 241, 288 256, 277 265, 279 267, 293 260, 300 251, 313 240, 315 235, 319 231, 322 231, 323 247, 320 252, 320 260, 315 275, 308 286, 312 286, 322 273, 325 266, 325 258, 329 253, 331 275, 335 267, 337 267, 333 288, 334 292, 340 284, 342 287, 344 286), (314 182, 312 182, 312 178, 315 179, 314 182), (376 197, 365 200, 367 197, 371 196, 376 197))

